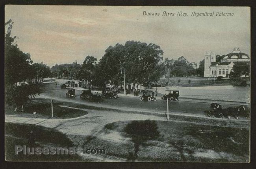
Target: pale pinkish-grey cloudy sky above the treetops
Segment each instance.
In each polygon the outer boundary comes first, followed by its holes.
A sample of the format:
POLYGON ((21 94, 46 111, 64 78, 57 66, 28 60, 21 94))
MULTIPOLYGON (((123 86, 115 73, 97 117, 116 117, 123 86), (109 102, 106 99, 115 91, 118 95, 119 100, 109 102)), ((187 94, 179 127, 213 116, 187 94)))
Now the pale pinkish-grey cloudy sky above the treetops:
POLYGON ((12 36, 33 62, 49 66, 82 64, 85 56, 98 60, 108 46, 128 40, 160 45, 164 58, 185 56, 189 62, 204 58, 205 51, 224 55, 234 47, 250 56, 249 7, 129 7, 6 5, 5 22, 13 20, 12 36), (143 16, 160 13, 160 16, 143 16), (175 13, 162 16, 163 11, 175 13), (182 11, 188 16, 177 16, 182 11), (191 16, 192 12, 213 16, 191 16), (215 16, 216 13, 233 16, 215 16))

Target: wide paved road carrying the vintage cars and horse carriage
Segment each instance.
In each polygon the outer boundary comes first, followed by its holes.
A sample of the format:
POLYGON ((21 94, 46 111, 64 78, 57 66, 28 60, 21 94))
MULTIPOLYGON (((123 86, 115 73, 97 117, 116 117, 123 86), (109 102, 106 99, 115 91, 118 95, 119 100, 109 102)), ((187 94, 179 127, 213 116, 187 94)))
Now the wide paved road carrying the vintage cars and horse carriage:
MULTIPOLYGON (((70 101, 70 102, 77 102, 86 105, 92 105, 97 107, 107 107, 107 108, 123 108, 123 109, 130 109, 130 110, 148 110, 148 111, 155 111, 155 112, 164 112, 167 111, 167 102, 158 99, 157 101, 140 101, 139 97, 128 97, 128 96, 120 96, 119 98, 112 100, 109 98, 104 99, 103 102, 96 103, 90 102, 84 99, 80 99, 79 95, 81 94, 81 90, 76 90, 76 97, 75 98, 67 98, 65 93, 67 89, 60 89, 59 85, 54 85, 54 83, 45 84, 46 91, 42 93, 42 96, 47 96, 49 98, 56 98, 56 99, 63 99, 63 101, 70 101)), ((79 89, 79 88, 75 88, 79 89)), ((210 108, 210 103, 214 101, 212 100, 193 100, 193 99, 180 99, 179 101, 174 101, 169 103, 169 112, 170 113, 182 113, 182 114, 194 114, 203 116, 204 111, 210 108)), ((241 103, 236 102, 221 102, 218 103, 222 104, 223 107, 235 107, 237 105, 241 105, 241 103)))

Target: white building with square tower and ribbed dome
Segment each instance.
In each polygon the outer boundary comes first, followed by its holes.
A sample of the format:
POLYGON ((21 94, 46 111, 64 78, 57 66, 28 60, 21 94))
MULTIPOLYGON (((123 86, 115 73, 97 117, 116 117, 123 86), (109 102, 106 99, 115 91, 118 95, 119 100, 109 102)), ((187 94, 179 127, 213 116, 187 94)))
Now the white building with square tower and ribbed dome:
POLYGON ((215 53, 204 53, 204 77, 226 77, 233 69, 234 62, 250 62, 247 54, 241 53, 238 47, 232 53, 216 58, 215 53))

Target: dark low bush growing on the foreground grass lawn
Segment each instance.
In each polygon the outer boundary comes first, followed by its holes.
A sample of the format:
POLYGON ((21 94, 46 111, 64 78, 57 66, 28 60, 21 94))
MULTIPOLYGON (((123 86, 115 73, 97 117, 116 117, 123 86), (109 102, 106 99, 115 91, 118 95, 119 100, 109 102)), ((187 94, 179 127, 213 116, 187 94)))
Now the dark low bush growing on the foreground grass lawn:
POLYGON ((152 120, 134 120, 124 127, 124 132, 152 138, 159 136, 158 126, 156 122, 152 120))

